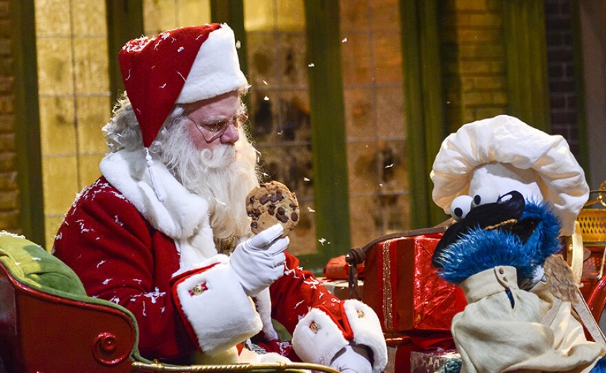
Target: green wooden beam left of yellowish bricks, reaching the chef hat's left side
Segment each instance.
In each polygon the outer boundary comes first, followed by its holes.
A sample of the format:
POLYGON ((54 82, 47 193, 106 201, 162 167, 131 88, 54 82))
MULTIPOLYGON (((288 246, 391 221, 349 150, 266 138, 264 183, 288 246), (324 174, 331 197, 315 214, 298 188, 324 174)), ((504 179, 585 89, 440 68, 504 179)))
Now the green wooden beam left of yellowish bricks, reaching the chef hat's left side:
POLYGON ((442 222, 446 215, 432 201, 432 164, 446 137, 437 2, 401 0, 402 67, 404 111, 410 178, 411 228, 426 228, 442 222))

